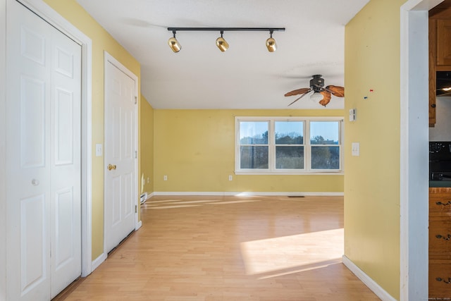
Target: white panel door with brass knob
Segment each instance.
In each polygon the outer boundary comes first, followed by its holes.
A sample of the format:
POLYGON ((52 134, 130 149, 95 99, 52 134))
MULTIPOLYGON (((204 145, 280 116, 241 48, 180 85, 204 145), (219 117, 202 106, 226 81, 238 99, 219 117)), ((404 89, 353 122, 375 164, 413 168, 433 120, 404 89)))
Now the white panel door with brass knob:
POLYGON ((110 252, 135 229, 135 80, 105 64, 105 240, 110 252))

